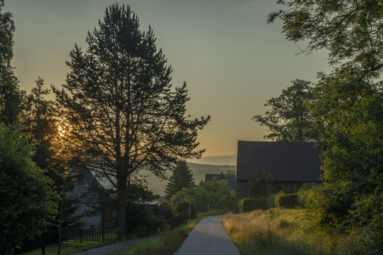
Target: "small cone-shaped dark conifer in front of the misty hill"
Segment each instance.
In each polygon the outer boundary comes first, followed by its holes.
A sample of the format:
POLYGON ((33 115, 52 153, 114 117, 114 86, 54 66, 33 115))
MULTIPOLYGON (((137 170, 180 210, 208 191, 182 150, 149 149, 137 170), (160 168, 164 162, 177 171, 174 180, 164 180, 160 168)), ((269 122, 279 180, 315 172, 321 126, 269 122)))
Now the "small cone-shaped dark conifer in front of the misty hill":
POLYGON ((175 193, 181 191, 182 188, 188 188, 189 185, 193 183, 193 173, 189 170, 186 162, 181 161, 170 177, 169 183, 166 185, 165 199, 170 201, 170 198, 172 198, 175 193))

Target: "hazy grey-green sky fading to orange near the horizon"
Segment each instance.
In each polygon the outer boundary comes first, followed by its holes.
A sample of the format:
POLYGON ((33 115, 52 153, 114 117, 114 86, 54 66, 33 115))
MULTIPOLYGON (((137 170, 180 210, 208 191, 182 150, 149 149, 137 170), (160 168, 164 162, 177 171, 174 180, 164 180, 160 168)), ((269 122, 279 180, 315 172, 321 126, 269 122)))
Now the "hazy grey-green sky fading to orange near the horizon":
MULTIPOLYGON (((48 87, 61 87, 69 68, 69 52, 77 43, 83 51, 88 30, 98 26, 108 0, 5 0, 16 31, 13 60, 20 88, 29 93, 40 76, 48 87)), ((277 97, 295 79, 317 81, 329 73, 327 52, 298 54, 286 41, 280 20, 266 24, 267 15, 282 6, 276 0, 131 0, 141 30, 157 37, 173 86, 187 83, 187 114, 210 122, 198 132, 193 163, 236 164, 237 141, 267 141, 267 128, 252 121, 264 114, 266 100, 277 97)), ((298 46, 306 46, 305 42, 298 46)), ((49 99, 53 99, 49 98, 49 99)))

